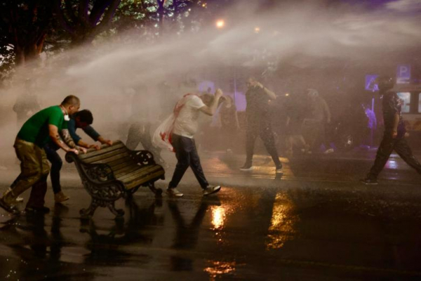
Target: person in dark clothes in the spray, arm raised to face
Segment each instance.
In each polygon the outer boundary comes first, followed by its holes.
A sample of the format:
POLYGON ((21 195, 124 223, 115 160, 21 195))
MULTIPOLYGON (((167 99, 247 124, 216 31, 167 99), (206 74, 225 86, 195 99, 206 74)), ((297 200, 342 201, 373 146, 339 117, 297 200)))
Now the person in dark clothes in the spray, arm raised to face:
POLYGON ((254 145, 256 138, 260 136, 267 152, 274 160, 276 172, 281 172, 282 164, 275 147, 274 132, 269 118, 269 100, 275 100, 276 96, 254 77, 248 79, 247 86, 246 163, 240 170, 250 171, 253 169, 254 145))

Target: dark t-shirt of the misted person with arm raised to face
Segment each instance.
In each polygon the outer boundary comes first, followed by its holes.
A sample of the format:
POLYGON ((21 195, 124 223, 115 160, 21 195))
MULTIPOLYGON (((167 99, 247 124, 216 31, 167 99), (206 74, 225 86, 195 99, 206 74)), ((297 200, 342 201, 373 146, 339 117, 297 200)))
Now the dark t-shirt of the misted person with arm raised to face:
POLYGON ((267 117, 269 112, 269 96, 260 87, 250 87, 246 92, 246 115, 250 117, 267 117))

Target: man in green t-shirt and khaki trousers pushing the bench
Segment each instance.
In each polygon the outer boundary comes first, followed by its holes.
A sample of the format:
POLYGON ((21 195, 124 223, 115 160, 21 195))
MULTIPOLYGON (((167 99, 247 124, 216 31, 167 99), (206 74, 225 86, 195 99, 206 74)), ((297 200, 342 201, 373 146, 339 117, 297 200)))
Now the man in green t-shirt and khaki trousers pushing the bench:
POLYGON ((79 107, 79 98, 67 96, 60 105, 37 112, 23 124, 13 145, 21 162, 20 175, 11 188, 4 192, 0 199, 0 207, 13 214, 19 214, 15 206, 16 197, 32 187, 25 210, 43 213, 49 211, 47 207, 44 207, 47 177, 50 171, 44 145, 53 141, 65 152, 79 153, 80 148, 76 147, 67 130, 69 115, 77 112, 79 107))

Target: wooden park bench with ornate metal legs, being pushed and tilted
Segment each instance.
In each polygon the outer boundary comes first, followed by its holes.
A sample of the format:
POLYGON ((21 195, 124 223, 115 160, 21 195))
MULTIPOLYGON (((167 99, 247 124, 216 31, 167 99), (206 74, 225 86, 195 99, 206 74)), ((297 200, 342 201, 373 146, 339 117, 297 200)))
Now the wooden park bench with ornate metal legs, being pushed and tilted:
POLYGON ((140 186, 161 196, 161 188, 155 188, 154 183, 165 178, 165 171, 147 150, 129 150, 116 141, 112 146, 102 145, 101 150, 89 149, 86 154, 67 152, 66 161, 74 162, 91 195, 91 205, 80 211, 83 218, 93 216, 98 207, 108 207, 116 217, 123 216, 124 211, 116 209, 114 202, 133 195, 140 186))

